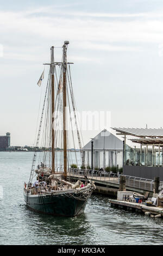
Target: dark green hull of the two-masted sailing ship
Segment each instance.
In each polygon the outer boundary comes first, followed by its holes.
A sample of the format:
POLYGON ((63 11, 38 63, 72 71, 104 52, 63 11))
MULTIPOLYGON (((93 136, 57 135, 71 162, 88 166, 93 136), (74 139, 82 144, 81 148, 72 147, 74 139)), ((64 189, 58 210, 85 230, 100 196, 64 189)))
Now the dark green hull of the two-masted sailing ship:
POLYGON ((74 198, 73 193, 67 196, 65 194, 35 196, 28 194, 27 196, 27 192, 24 191, 24 200, 30 209, 56 216, 74 217, 82 214, 86 206, 86 200, 78 199, 77 195, 74 198))

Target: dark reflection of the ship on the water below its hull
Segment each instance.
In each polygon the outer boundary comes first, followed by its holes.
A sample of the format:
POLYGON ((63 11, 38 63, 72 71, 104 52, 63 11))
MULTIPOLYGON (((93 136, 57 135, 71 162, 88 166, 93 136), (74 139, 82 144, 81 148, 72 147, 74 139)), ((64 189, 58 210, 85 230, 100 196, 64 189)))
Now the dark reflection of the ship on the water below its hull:
POLYGON ((26 215, 26 227, 34 237, 35 244, 84 244, 91 243, 93 233, 92 226, 87 220, 86 214, 78 217, 60 217, 44 215, 24 206, 26 215), (43 237, 43 241, 38 237, 43 237))

